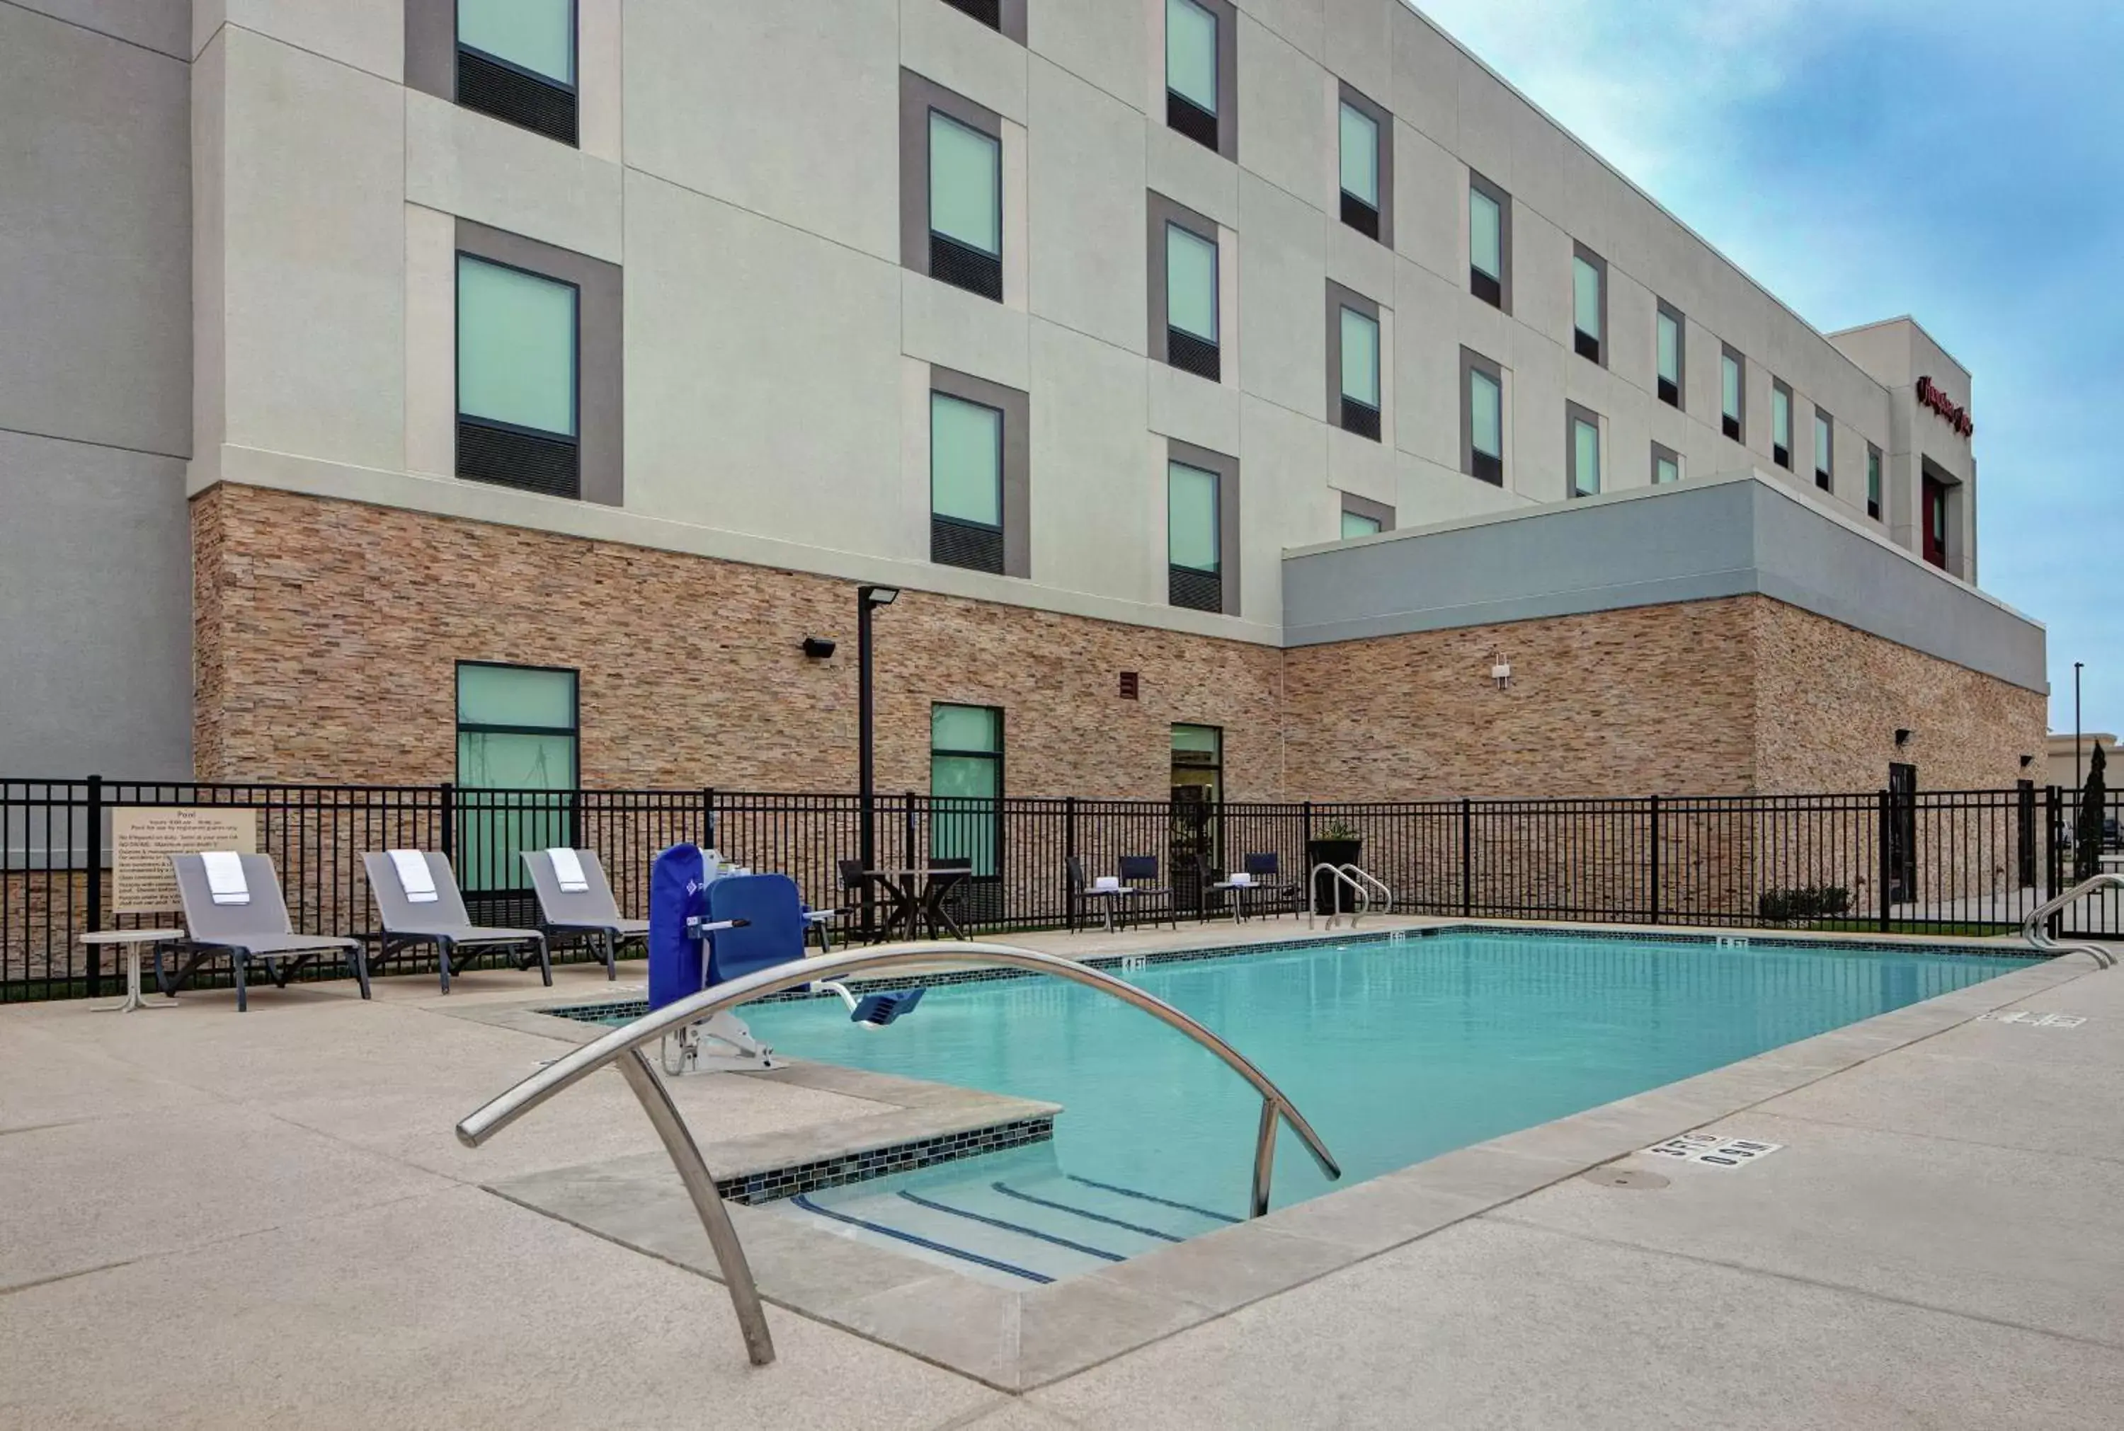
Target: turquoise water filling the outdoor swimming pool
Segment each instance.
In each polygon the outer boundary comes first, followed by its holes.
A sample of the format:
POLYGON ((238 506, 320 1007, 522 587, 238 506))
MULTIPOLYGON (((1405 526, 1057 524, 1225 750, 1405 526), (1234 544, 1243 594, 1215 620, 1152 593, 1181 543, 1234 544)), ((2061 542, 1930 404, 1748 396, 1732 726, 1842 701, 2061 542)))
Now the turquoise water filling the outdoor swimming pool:
MULTIPOLYGON (((1446 932, 1124 977, 1281 1085, 1347 1187, 2024 966, 1829 945, 1446 932)), ((792 1057, 1062 1104, 1051 1176, 1079 1189, 1128 1189, 1113 1197, 1138 1208, 1158 1206, 1141 1195, 1245 1214, 1260 1098, 1194 1040, 1111 996, 1030 977, 937 985, 884 1030, 850 1023, 839 1000, 754 1004, 743 1017, 792 1057)), ((1277 1206, 1330 1187, 1285 1130, 1277 1206)))

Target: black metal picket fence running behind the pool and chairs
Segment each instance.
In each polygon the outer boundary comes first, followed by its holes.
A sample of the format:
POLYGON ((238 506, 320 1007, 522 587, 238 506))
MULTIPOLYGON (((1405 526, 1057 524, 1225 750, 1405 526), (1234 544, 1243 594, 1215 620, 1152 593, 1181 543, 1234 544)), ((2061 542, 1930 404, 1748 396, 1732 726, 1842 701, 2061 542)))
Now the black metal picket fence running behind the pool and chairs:
MULTIPOLYGON (((1398 913, 1992 934, 2116 845, 2120 800, 2088 849, 2075 845, 2075 794, 2033 786, 1342 805, 903 792, 875 798, 873 866, 971 854, 962 921, 1028 930, 1083 913, 1070 860, 1098 877, 1121 856, 1155 856, 1175 911, 1217 917, 1213 885, 1245 856, 1274 854, 1283 877, 1302 879, 1313 841, 1347 837, 1398 913)), ((127 807, 255 811, 295 928, 355 936, 376 932, 361 873, 372 849, 442 849, 474 919, 520 926, 535 917, 523 849, 597 849, 633 915, 646 913, 650 860, 678 841, 784 870, 824 909, 845 902, 839 862, 860 858, 864 826, 854 794, 0 781, 0 1002, 106 992, 117 964, 79 936, 166 921, 115 913, 110 826, 127 807)), ((2060 932, 2124 934, 2124 907, 2084 900, 2060 932)))

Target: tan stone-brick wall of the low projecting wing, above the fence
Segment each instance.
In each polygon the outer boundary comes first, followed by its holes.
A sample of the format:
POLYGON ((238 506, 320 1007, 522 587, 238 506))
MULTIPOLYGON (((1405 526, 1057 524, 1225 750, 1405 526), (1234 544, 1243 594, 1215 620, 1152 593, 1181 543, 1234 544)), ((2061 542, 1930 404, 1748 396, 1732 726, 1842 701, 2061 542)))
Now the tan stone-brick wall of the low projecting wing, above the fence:
POLYGON ((1769 597, 1285 654, 1285 779, 1321 800, 1863 792, 1890 760, 2001 790, 2043 722, 2039 692, 1769 597))

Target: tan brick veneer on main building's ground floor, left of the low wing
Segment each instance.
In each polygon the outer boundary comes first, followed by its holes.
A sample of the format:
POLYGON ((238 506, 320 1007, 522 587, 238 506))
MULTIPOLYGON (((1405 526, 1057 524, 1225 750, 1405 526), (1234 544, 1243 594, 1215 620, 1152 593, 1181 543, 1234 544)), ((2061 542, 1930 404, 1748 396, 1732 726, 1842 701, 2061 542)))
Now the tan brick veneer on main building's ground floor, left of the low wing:
MULTIPOLYGON (((232 484, 191 524, 202 779, 450 779, 455 665, 503 660, 580 671, 590 786, 856 788, 850 582, 232 484)), ((907 592, 877 692, 879 790, 928 790, 930 701, 1005 707, 1011 794, 1164 798, 1172 722, 1281 786, 1264 645, 907 592)))

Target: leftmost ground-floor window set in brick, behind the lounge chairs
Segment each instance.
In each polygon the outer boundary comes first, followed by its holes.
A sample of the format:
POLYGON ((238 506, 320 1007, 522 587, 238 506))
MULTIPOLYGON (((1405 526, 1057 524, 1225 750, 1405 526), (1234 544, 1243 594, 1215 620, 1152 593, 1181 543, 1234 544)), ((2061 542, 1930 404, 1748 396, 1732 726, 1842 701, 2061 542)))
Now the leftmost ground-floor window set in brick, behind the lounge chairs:
POLYGON ((457 662, 455 834, 467 894, 520 890, 525 849, 576 843, 578 743, 573 671, 457 662))

